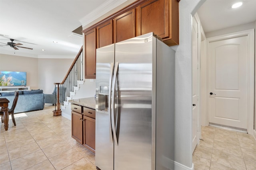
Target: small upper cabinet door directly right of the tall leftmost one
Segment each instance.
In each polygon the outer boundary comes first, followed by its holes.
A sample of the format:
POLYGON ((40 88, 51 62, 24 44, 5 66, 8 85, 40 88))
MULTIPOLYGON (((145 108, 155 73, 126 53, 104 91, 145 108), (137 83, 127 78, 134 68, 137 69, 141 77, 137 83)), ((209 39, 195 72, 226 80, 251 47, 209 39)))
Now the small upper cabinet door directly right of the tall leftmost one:
POLYGON ((110 20, 97 28, 97 48, 113 43, 113 21, 110 20))

